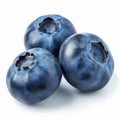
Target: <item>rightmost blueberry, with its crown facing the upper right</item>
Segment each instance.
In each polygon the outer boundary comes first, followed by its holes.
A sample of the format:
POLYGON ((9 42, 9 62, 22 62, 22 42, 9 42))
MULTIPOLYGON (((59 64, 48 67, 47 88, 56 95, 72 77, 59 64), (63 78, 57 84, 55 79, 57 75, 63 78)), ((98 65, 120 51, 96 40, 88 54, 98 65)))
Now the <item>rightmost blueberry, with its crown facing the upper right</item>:
POLYGON ((90 33, 72 35, 62 44, 60 64, 66 80, 82 92, 103 88, 114 69, 108 46, 90 33))

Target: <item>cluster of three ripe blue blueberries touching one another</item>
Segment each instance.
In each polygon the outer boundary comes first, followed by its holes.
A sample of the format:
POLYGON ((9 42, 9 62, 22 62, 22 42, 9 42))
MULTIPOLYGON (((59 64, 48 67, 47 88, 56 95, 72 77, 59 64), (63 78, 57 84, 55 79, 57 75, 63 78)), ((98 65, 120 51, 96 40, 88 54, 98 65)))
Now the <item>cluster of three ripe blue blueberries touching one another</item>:
POLYGON ((7 72, 7 87, 17 100, 40 102, 59 87, 62 73, 81 92, 103 88, 111 78, 114 60, 106 43, 90 33, 77 34, 60 15, 34 20, 24 37, 25 52, 7 72))

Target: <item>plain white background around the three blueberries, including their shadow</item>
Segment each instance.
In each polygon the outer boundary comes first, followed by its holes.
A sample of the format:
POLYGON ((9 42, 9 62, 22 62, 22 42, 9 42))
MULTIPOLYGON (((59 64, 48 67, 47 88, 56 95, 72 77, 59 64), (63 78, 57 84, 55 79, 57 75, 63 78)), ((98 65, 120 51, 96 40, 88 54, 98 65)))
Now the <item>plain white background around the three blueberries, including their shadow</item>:
POLYGON ((120 120, 119 0, 0 0, 0 120, 120 120), (100 36, 115 61, 110 82, 82 94, 62 79, 45 101, 28 106, 16 101, 6 87, 6 73, 24 48, 24 33, 34 19, 46 14, 68 18, 78 33, 100 36))

